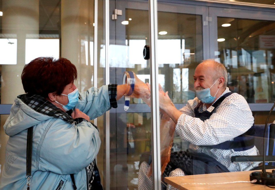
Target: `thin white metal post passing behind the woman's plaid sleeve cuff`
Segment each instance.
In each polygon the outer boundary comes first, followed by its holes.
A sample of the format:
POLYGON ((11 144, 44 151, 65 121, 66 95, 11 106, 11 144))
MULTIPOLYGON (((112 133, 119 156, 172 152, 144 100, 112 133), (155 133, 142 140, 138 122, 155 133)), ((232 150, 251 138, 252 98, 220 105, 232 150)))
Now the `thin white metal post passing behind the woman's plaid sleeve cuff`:
MULTIPOLYGON (((105 84, 108 85, 110 81, 109 76, 109 0, 105 0, 105 84)), ((104 189, 110 189, 110 113, 105 113, 105 179, 104 189)))

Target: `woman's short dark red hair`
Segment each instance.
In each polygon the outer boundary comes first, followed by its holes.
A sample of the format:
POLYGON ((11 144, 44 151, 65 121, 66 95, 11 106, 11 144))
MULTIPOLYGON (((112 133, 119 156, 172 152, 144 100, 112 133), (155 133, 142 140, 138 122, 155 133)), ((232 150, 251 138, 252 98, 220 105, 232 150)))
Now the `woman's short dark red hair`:
POLYGON ((21 74, 25 93, 48 97, 48 93, 60 95, 65 86, 77 78, 77 70, 66 58, 38 57, 26 64, 21 74))

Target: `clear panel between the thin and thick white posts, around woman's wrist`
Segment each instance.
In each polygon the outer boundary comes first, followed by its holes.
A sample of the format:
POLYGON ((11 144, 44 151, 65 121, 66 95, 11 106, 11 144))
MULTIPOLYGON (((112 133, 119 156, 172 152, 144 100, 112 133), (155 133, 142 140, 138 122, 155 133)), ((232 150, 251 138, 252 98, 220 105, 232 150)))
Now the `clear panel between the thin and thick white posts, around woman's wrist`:
MULTIPOLYGON (((125 7, 131 4, 117 1, 116 9, 122 9, 123 15, 117 16, 116 29, 110 27, 110 31, 116 31, 116 43, 110 36, 110 83, 122 84, 124 71, 133 71, 143 82, 150 79, 150 62, 142 54, 144 46, 150 44, 148 2, 135 2, 140 9, 125 7), (122 21, 128 21, 128 25, 122 21)), ((102 61, 100 66, 104 64, 102 61)), ((137 189, 140 155, 151 150, 151 113, 133 111, 133 103, 142 100, 131 98, 126 112, 123 97, 118 108, 110 110, 110 189, 137 189)))

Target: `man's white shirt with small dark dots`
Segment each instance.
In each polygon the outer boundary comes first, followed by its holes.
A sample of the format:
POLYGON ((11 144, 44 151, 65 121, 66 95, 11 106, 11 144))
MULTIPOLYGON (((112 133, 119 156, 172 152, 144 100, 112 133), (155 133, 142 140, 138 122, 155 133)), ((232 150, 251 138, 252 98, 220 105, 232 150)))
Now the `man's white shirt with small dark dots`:
MULTIPOLYGON (((227 92, 230 92, 228 87, 221 96, 227 92)), ((239 171, 238 165, 231 162, 231 156, 259 155, 255 146, 249 150, 239 152, 235 152, 233 149, 222 150, 203 147, 203 145, 216 145, 233 140, 253 125, 254 117, 251 109, 241 95, 233 93, 226 97, 211 117, 204 122, 200 118, 195 118, 194 109, 199 102, 197 97, 189 100, 186 106, 180 109, 182 115, 178 118, 176 125, 176 133, 182 140, 190 142, 188 147, 190 152, 202 152, 212 156, 225 165, 229 171, 239 171)), ((205 104, 198 109, 199 112, 205 110, 205 104)), ((243 163, 243 169, 248 165, 249 163, 243 163)))

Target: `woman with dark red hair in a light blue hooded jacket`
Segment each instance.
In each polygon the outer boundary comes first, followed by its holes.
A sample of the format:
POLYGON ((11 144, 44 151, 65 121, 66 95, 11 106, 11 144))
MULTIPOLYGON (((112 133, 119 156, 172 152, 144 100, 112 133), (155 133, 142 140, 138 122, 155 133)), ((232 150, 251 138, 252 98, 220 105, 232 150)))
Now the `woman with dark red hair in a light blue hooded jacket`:
POLYGON ((1 190, 102 189, 95 164, 101 140, 89 120, 116 108, 126 85, 78 93, 76 78, 76 67, 65 58, 40 57, 25 65, 21 79, 26 94, 17 96, 4 125, 9 140, 1 190), (32 156, 27 156, 31 134, 32 156), (31 163, 27 173, 26 162, 31 163))

